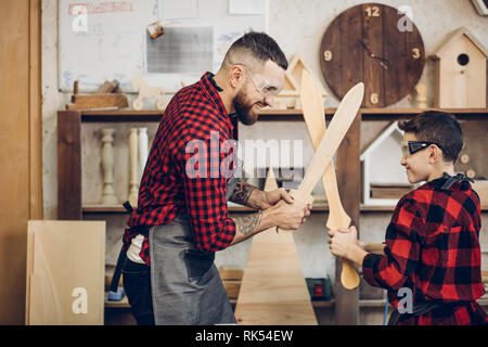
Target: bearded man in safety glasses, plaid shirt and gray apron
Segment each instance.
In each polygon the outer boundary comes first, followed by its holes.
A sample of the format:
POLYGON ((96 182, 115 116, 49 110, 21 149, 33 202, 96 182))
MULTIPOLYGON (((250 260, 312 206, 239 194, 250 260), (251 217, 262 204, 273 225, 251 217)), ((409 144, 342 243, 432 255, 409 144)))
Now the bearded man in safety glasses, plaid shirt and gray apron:
POLYGON ((271 227, 296 230, 310 214, 285 190, 260 191, 223 165, 237 121, 252 125, 272 105, 286 68, 278 43, 251 31, 216 75, 204 74, 169 102, 124 235, 124 288, 138 324, 235 323, 215 252, 271 227), (258 213, 230 218, 227 201, 258 213))

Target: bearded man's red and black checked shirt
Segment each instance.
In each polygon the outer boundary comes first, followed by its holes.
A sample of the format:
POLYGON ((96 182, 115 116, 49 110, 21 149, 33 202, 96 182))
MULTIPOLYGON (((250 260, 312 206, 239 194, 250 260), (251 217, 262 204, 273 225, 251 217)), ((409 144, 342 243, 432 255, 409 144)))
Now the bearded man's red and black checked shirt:
MULTIPOLYGON (((152 227, 188 214, 202 252, 228 247, 235 234, 226 194, 234 169, 235 152, 229 143, 236 137, 236 123, 229 117, 211 77, 206 73, 169 102, 144 168, 138 208, 127 221, 129 227, 152 227)), ((137 234, 126 229, 125 249, 137 234)), ((150 266, 147 237, 139 255, 150 266)))

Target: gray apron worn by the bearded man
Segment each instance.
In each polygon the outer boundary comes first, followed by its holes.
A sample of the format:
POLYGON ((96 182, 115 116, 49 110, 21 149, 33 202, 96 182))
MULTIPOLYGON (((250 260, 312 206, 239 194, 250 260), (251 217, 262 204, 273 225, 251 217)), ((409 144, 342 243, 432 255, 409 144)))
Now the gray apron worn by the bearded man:
POLYGON ((152 227, 149 242, 156 325, 235 324, 214 264, 215 253, 196 248, 187 215, 178 216, 169 224, 152 227))

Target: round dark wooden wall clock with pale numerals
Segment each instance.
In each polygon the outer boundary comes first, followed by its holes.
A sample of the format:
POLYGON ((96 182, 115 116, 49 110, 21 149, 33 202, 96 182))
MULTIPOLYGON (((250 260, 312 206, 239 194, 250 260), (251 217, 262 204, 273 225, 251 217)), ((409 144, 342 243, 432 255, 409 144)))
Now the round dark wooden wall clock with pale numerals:
POLYGON ((362 81, 362 106, 386 107, 413 91, 425 51, 418 28, 407 22, 406 14, 385 4, 364 3, 344 11, 328 27, 320 62, 337 98, 362 81))

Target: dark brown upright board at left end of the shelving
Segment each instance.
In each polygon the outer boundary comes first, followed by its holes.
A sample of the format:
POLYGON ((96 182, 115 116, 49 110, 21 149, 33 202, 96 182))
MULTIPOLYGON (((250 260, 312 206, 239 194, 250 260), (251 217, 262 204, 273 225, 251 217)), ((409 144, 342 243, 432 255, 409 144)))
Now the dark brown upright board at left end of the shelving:
POLYGON ((57 219, 81 219, 80 113, 57 113, 57 219))

